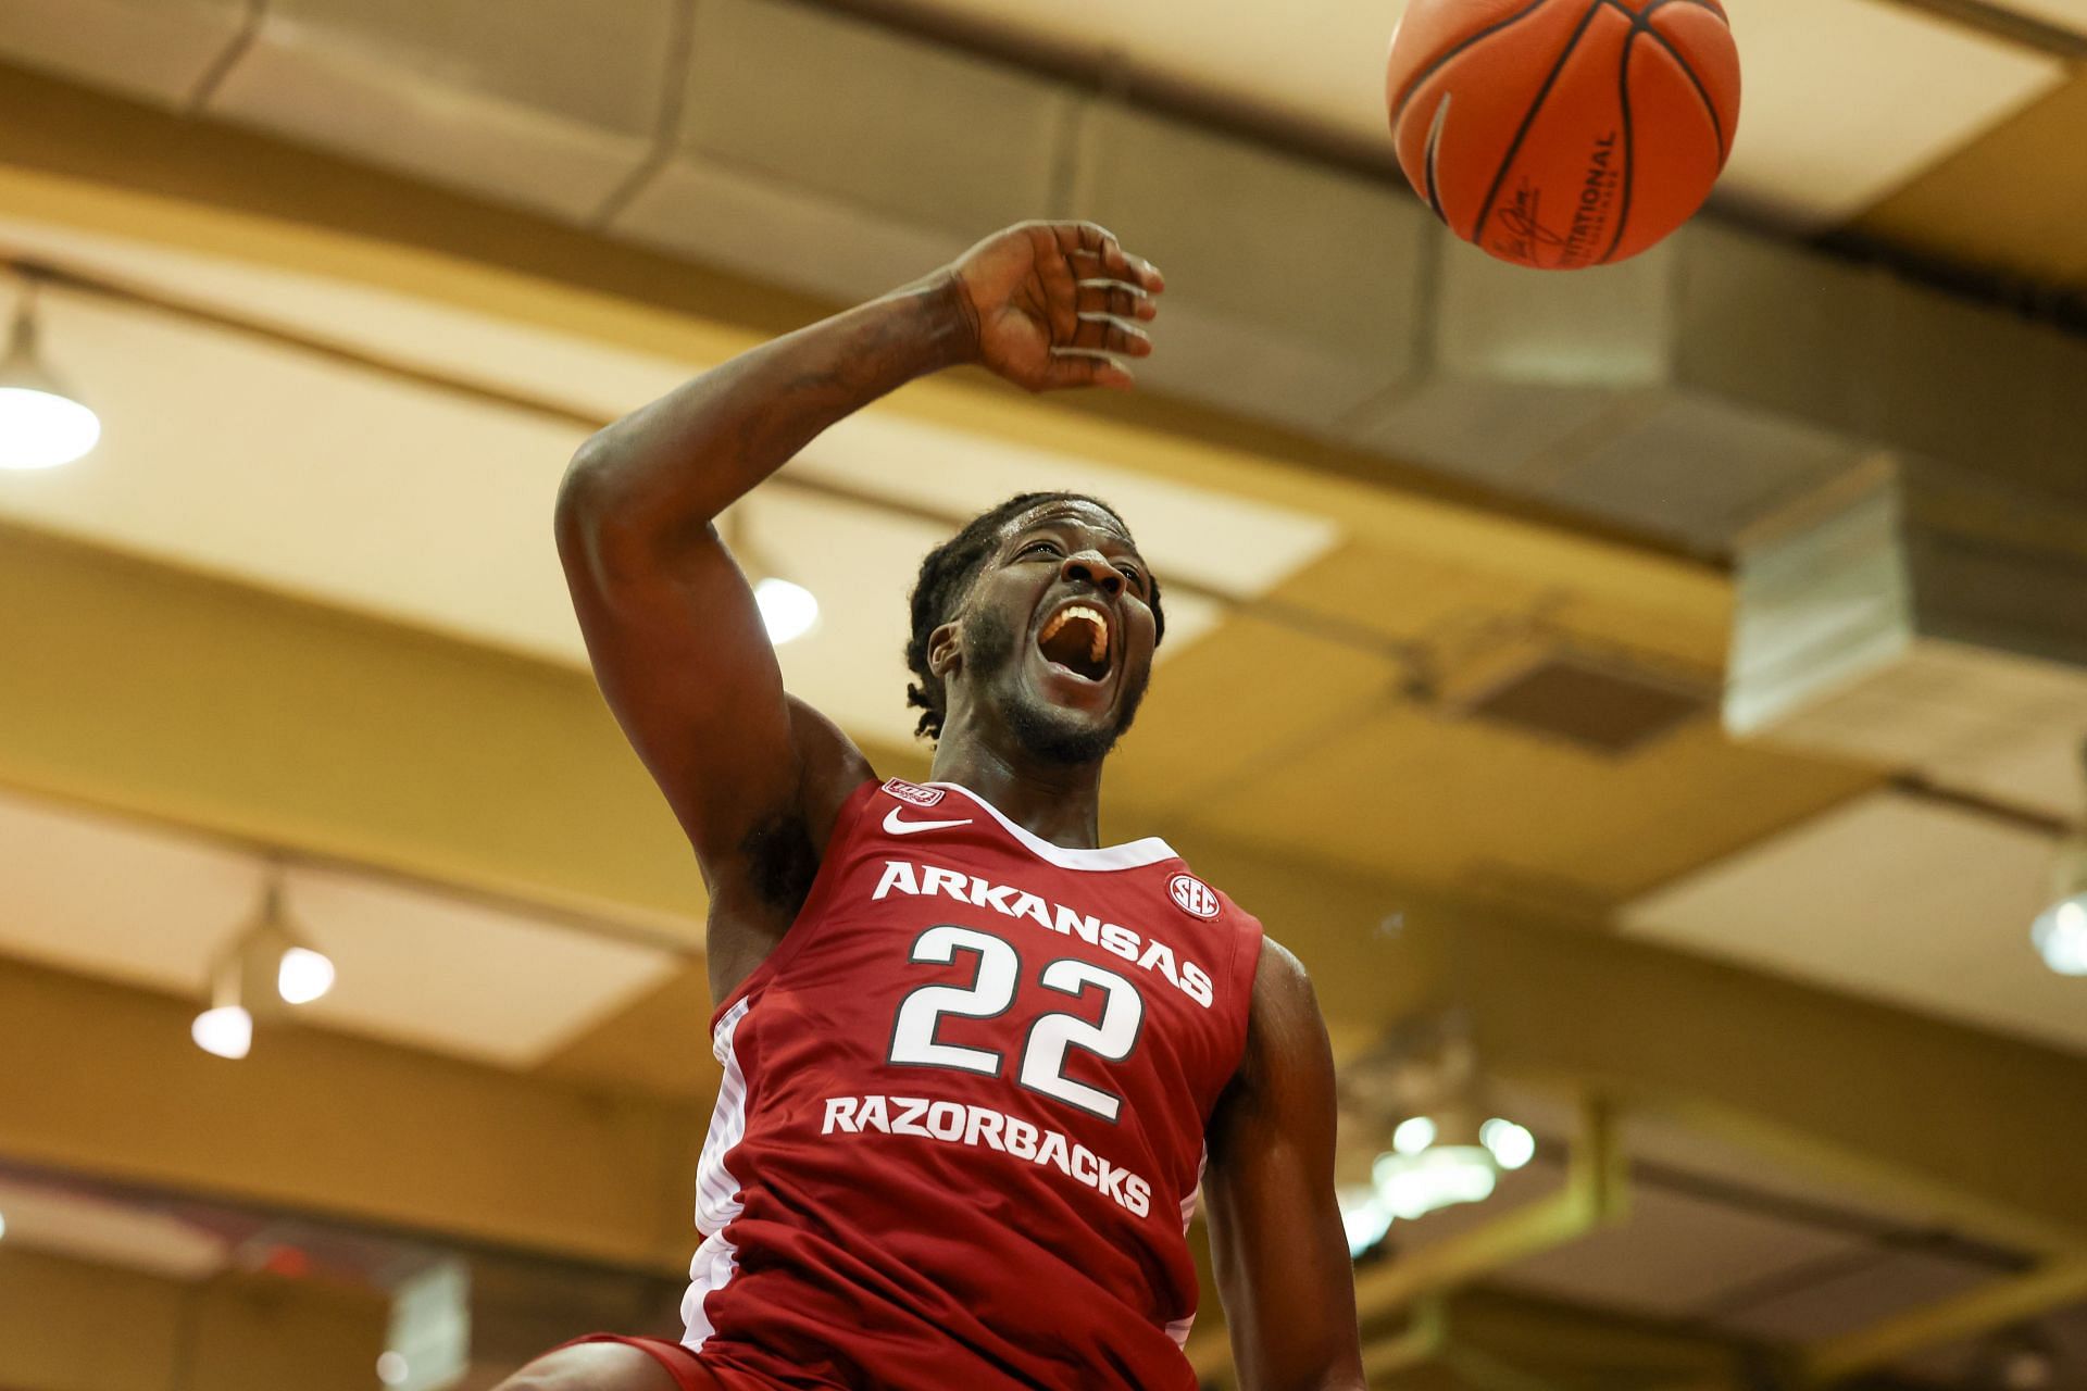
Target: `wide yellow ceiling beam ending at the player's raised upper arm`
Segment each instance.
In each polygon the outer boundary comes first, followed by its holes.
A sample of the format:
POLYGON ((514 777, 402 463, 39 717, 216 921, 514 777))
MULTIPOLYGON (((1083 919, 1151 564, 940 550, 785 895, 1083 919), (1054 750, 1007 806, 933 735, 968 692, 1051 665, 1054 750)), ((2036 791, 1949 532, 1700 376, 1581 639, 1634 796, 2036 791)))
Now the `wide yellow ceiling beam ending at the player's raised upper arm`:
POLYGON ((25 528, 0 592, 0 784, 701 947, 701 876, 586 672, 25 528))

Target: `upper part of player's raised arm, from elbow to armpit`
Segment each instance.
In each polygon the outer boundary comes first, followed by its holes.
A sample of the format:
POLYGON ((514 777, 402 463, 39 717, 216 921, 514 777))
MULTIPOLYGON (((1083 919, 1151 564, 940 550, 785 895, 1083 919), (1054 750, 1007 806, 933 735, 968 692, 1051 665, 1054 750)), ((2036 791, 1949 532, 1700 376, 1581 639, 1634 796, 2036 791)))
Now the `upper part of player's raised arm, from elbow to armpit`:
POLYGON ((705 872, 749 826, 799 803, 783 672, 730 553, 705 530, 672 544, 559 517, 559 557, 595 680, 705 872), (643 548, 641 548, 643 546, 643 548))

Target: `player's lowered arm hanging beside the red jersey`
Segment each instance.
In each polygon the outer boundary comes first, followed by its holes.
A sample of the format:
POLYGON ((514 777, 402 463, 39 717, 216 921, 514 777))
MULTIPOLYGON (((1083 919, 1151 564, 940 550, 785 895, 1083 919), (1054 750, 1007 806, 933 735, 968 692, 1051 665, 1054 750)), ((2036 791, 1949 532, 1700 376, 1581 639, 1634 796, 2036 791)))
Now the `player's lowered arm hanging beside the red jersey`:
POLYGON ((1334 1057, 1311 980, 1273 941, 1246 1057, 1210 1118, 1204 1197, 1244 1391, 1363 1391, 1354 1268, 1334 1199, 1334 1057))

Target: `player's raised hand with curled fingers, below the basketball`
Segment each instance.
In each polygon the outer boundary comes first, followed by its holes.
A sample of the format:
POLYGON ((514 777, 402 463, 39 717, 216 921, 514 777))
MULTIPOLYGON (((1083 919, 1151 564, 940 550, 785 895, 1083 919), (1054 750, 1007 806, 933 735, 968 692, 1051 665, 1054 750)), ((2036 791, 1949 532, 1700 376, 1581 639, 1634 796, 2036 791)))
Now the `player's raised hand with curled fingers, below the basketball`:
POLYGON ((1094 223, 1016 223, 950 267, 977 355, 1031 392, 1135 386, 1123 359, 1152 352, 1158 269, 1094 223))

